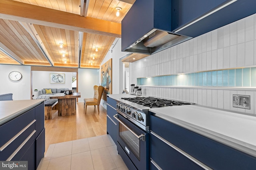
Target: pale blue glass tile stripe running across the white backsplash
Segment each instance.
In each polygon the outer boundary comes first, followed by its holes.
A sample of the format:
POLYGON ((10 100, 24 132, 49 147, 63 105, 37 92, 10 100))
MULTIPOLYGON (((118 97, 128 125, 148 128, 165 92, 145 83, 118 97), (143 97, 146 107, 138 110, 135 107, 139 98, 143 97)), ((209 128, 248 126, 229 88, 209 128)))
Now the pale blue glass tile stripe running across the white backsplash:
POLYGON ((137 86, 256 87, 256 67, 137 78, 137 86))

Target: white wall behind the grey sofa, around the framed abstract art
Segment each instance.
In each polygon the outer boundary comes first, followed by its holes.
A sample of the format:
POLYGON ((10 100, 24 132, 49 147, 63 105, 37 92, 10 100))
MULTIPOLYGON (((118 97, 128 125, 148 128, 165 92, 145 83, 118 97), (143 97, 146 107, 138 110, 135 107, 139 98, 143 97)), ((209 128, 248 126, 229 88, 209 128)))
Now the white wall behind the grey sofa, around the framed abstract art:
POLYGON ((32 71, 32 90, 42 90, 43 88, 68 88, 72 89, 72 72, 55 71, 32 71), (65 83, 50 83, 50 73, 65 74, 65 83))

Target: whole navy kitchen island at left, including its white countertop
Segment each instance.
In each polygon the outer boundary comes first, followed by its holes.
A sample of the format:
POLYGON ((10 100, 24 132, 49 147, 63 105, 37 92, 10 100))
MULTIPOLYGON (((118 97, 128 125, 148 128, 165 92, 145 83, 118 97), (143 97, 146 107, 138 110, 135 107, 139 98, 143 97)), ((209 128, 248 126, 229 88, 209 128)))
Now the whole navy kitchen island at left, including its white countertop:
POLYGON ((0 101, 0 136, 0 160, 35 170, 45 151, 44 100, 0 101))

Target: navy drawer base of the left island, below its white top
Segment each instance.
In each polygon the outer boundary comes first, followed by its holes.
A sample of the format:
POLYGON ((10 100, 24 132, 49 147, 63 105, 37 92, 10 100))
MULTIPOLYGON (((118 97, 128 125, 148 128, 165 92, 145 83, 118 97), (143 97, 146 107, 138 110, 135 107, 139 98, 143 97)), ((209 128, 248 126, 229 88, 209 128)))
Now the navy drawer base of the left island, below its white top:
POLYGON ((26 160, 37 168, 44 157, 44 102, 0 126, 0 160, 26 160))

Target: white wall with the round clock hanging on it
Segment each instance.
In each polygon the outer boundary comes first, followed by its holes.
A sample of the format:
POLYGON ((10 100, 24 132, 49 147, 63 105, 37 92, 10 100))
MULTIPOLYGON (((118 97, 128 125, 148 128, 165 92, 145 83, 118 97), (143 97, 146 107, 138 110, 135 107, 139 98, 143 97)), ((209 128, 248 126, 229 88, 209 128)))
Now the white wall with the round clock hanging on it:
POLYGON ((13 100, 30 100, 30 70, 30 66, 0 64, 0 94, 12 93, 13 100), (22 79, 10 80, 9 73, 12 71, 20 72, 22 79))

